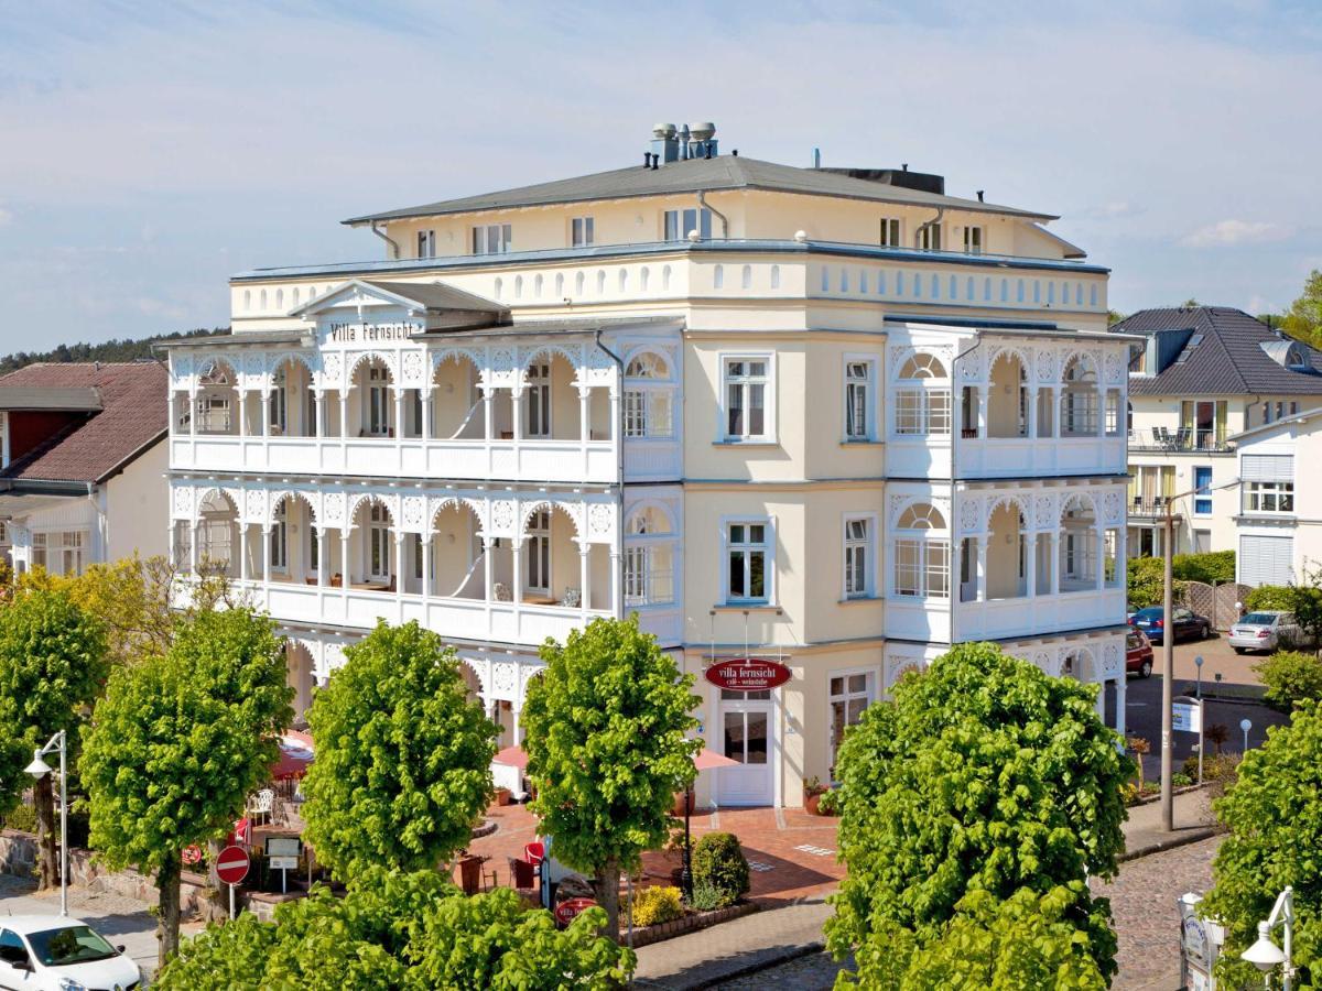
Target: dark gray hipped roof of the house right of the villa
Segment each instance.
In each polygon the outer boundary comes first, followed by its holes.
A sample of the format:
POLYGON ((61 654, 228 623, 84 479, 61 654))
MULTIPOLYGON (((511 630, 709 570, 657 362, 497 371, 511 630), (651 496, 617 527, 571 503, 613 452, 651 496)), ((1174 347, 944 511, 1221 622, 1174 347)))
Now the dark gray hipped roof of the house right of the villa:
POLYGON ((1233 307, 1144 309, 1110 329, 1162 338, 1159 370, 1130 375, 1130 395, 1322 395, 1322 354, 1233 307))

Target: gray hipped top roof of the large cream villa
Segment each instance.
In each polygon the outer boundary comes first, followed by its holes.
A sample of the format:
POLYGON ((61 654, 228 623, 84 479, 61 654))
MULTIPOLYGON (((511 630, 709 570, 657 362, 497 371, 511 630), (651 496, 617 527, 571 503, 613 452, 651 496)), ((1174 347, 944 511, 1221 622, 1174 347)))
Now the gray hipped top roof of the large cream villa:
POLYGON ((362 217, 350 217, 344 223, 398 221, 408 217, 438 217, 442 214, 575 203, 592 200, 669 196, 697 193, 699 190, 711 193, 727 189, 761 189, 776 193, 830 196, 911 206, 949 206, 962 210, 977 210, 980 213, 1026 217, 1035 221, 1056 219, 1052 214, 1018 210, 1013 206, 998 206, 997 203, 984 203, 978 200, 924 193, 917 189, 894 186, 887 182, 851 178, 837 172, 777 165, 776 163, 759 161, 758 159, 748 159, 742 155, 718 155, 713 159, 672 161, 656 169, 644 168, 640 164, 627 169, 612 169, 611 172, 598 172, 591 176, 576 176, 554 182, 538 182, 531 186, 505 189, 498 193, 483 193, 459 200, 442 200, 435 203, 406 206, 399 210, 369 213, 362 217))

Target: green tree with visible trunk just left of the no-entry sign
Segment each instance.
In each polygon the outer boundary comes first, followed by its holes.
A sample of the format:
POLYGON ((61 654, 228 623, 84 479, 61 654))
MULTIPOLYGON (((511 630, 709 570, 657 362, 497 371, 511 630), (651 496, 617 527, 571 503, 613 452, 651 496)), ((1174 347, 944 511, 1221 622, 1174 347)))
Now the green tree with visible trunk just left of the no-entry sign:
POLYGON ((81 765, 91 846, 156 872, 161 963, 178 947, 181 854, 223 835, 267 780, 292 698, 271 621, 241 609, 200 613, 167 654, 111 674, 81 765))

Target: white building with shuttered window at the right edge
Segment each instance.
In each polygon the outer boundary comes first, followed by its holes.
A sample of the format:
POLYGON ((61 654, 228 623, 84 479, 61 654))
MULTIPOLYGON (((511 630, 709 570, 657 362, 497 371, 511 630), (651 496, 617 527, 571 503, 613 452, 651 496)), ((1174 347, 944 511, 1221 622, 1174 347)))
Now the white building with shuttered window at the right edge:
POLYGON ((1322 568, 1322 407, 1231 437, 1240 478, 1236 579, 1303 581, 1322 568), (1307 470, 1306 465, 1314 465, 1307 470), (1313 478, 1313 484, 1307 480, 1313 478))

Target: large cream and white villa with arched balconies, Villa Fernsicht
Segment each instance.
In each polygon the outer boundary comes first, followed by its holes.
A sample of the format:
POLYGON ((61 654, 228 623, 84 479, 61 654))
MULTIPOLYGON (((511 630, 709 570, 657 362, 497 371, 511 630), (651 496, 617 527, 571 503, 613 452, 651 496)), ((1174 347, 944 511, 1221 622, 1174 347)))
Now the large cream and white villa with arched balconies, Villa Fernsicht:
POLYGON ((724 805, 798 805, 954 641, 1107 682, 1122 720, 1108 271, 939 176, 686 133, 349 221, 386 260, 234 276, 233 336, 168 346, 180 562, 280 621, 300 707, 378 617, 416 618, 506 741, 546 637, 637 612, 740 762, 703 776, 724 805), (736 657, 793 678, 702 679, 736 657))

